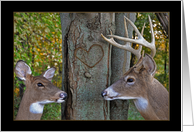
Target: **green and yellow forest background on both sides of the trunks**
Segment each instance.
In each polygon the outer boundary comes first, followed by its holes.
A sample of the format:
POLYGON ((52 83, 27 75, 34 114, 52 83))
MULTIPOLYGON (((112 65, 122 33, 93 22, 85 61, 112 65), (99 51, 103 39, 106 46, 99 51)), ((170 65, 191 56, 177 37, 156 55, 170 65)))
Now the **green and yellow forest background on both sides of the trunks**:
MULTIPOLYGON (((162 25, 155 13, 136 13, 135 25, 141 31, 146 23, 143 36, 150 42, 148 15, 152 19, 156 39, 155 78, 169 91, 169 39, 165 36, 162 25)), ((136 38, 135 32, 133 38, 136 38)), ((137 49, 138 45, 134 47, 137 49)), ((150 53, 148 48, 143 47, 143 50, 150 53)), ((59 13, 14 13, 14 67, 18 60, 24 60, 31 67, 33 76, 55 66, 57 69, 52 83, 62 88, 62 31, 59 13)), ((25 88, 14 73, 14 119, 25 88)), ((45 105, 41 120, 61 120, 61 104, 45 105)))

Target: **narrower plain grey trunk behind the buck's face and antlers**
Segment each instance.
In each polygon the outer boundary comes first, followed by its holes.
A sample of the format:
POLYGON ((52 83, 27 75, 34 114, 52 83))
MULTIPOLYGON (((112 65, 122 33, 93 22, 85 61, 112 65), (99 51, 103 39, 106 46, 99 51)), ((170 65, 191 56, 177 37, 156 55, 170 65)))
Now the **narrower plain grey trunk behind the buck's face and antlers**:
MULTIPOLYGON (((135 22, 136 14, 135 13, 115 13, 115 34, 118 36, 125 36, 125 28, 124 28, 124 15, 135 22)), ((130 24, 127 24, 128 29, 128 37, 132 38, 133 27, 130 24)), ((124 44, 123 41, 116 40, 119 44, 124 44)), ((112 47, 112 56, 111 56, 111 84, 117 81, 126 71, 130 68, 130 57, 131 53, 119 49, 115 46, 112 47)), ((114 100, 110 101, 110 119, 111 120, 127 120, 128 112, 132 112, 132 110, 136 109, 133 104, 133 101, 129 100, 114 100), (128 111, 129 109, 129 111, 128 111)), ((136 114, 134 115, 136 116, 136 114)))

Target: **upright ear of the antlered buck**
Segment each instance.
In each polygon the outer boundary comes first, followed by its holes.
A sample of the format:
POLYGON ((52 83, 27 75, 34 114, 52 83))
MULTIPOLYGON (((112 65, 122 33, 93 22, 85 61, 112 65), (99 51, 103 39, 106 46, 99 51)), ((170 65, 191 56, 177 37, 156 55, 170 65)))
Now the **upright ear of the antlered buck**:
POLYGON ((145 57, 143 58, 143 66, 149 74, 151 74, 152 76, 155 75, 156 63, 150 55, 145 54, 145 57))

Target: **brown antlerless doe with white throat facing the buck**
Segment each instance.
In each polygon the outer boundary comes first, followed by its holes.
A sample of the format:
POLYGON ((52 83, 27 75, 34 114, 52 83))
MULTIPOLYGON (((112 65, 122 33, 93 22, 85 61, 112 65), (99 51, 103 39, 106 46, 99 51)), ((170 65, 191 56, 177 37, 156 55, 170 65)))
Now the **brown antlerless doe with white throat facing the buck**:
POLYGON ((15 73, 26 85, 16 120, 40 120, 45 104, 65 101, 67 94, 51 83, 54 67, 33 77, 30 67, 20 60, 16 64, 15 73))

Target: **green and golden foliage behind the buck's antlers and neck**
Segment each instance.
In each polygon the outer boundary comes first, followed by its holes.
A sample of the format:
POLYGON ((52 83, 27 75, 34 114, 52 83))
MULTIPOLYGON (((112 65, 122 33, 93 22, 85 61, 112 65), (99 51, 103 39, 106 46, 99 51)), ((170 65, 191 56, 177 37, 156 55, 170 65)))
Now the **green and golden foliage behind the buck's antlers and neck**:
MULTIPOLYGON (((166 36, 163 34, 162 25, 158 21, 155 13, 137 13, 135 25, 137 26, 138 30, 141 31, 145 23, 143 37, 148 42, 151 42, 151 31, 149 26, 148 15, 150 15, 152 19, 155 34, 156 55, 154 57, 154 60, 157 65, 155 78, 159 82, 161 82, 167 90, 169 90, 169 39, 167 39, 166 36)), ((138 46, 136 48, 138 48, 138 46)), ((151 50, 144 46, 142 48, 142 51, 143 50, 145 51, 145 53, 151 53, 151 50)))

